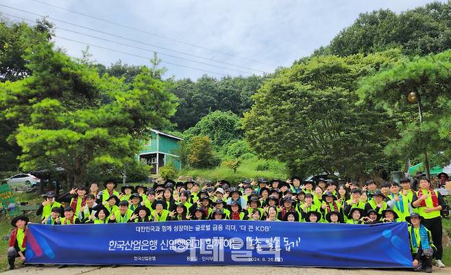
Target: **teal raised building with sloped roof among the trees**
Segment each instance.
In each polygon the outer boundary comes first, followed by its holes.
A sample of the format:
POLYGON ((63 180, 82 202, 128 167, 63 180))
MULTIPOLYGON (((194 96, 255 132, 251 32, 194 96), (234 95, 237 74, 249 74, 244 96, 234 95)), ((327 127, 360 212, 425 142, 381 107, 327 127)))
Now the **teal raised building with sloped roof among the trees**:
POLYGON ((182 169, 180 156, 178 155, 180 145, 178 142, 183 140, 175 135, 169 135, 158 130, 151 130, 150 139, 143 144, 139 152, 139 160, 143 163, 153 166, 152 174, 158 174, 160 167, 171 164, 175 169, 182 169))

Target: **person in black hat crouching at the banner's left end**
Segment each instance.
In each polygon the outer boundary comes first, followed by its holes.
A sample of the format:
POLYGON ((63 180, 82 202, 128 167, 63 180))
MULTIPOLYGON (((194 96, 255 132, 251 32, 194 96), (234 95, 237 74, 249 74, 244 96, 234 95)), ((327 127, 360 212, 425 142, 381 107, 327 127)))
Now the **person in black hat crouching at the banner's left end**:
POLYGON ((14 229, 11 232, 10 245, 8 248, 8 263, 10 270, 14 270, 14 261, 17 257, 21 257, 25 262, 25 243, 27 242, 27 224, 29 219, 24 215, 19 215, 11 220, 11 226, 14 229))

